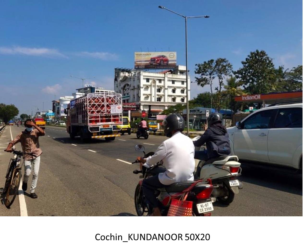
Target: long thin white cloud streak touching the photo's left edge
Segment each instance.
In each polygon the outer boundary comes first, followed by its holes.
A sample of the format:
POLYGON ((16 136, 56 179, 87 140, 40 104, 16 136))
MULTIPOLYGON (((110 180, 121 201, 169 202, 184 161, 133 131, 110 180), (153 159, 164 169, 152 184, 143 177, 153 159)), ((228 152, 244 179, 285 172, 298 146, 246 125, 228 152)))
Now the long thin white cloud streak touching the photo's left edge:
POLYGON ((58 49, 53 48, 36 48, 36 47, 0 47, 0 54, 22 54, 31 56, 45 56, 45 57, 63 57, 67 58, 64 54, 61 54, 58 49))

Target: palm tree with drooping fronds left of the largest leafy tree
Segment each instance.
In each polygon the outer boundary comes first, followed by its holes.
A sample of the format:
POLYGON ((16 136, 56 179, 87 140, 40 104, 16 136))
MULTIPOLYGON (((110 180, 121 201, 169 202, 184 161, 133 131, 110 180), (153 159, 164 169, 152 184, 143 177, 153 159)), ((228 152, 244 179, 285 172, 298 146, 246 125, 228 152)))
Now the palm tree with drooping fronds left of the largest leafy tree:
POLYGON ((244 95, 243 89, 240 88, 240 86, 243 85, 243 82, 240 80, 237 81, 237 78, 234 76, 230 76, 228 79, 226 79, 227 85, 224 86, 225 90, 223 91, 223 95, 227 96, 227 101, 230 98, 230 108, 231 111, 233 111, 233 106, 235 107, 235 96, 244 95))

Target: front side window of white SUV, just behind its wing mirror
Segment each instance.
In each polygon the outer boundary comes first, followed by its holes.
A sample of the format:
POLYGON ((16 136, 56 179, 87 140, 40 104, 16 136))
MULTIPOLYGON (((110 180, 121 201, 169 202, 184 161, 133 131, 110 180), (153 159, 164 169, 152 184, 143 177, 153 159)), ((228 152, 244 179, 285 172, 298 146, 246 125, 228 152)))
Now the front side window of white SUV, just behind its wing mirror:
POLYGON ((242 122, 243 129, 267 129, 269 127, 269 121, 273 113, 273 109, 259 111, 250 117, 248 117, 244 122, 242 122))

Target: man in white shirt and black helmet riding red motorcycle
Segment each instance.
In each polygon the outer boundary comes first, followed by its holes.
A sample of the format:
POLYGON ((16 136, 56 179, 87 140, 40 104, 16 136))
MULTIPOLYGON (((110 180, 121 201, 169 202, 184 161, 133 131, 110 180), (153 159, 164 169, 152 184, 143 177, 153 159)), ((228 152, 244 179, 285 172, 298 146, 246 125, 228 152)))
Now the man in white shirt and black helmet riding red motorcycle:
POLYGON ((192 140, 181 132, 185 121, 179 114, 168 115, 163 121, 165 135, 169 138, 161 143, 153 156, 138 158, 145 167, 163 161, 163 173, 143 181, 142 188, 149 204, 153 207, 151 216, 161 216, 155 190, 180 181, 193 181, 195 169, 194 145, 192 140))

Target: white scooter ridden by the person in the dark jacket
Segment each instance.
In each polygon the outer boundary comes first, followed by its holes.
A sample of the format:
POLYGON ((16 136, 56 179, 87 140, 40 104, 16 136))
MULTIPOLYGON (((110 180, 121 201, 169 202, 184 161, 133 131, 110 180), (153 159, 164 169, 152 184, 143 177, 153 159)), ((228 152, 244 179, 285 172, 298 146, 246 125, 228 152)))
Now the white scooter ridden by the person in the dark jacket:
MULTIPOLYGON (((200 137, 195 137, 192 141, 198 140, 200 137)), ((205 150, 201 146, 200 150, 205 150)), ((237 156, 220 156, 210 160, 196 160, 195 180, 202 179, 206 183, 207 179, 212 180, 213 191, 211 194, 212 202, 216 200, 224 205, 229 205, 233 202, 235 194, 239 193, 239 189, 243 188, 243 184, 237 179, 241 175, 242 168, 240 167, 237 156), (197 163, 199 161, 199 163, 197 163)))

